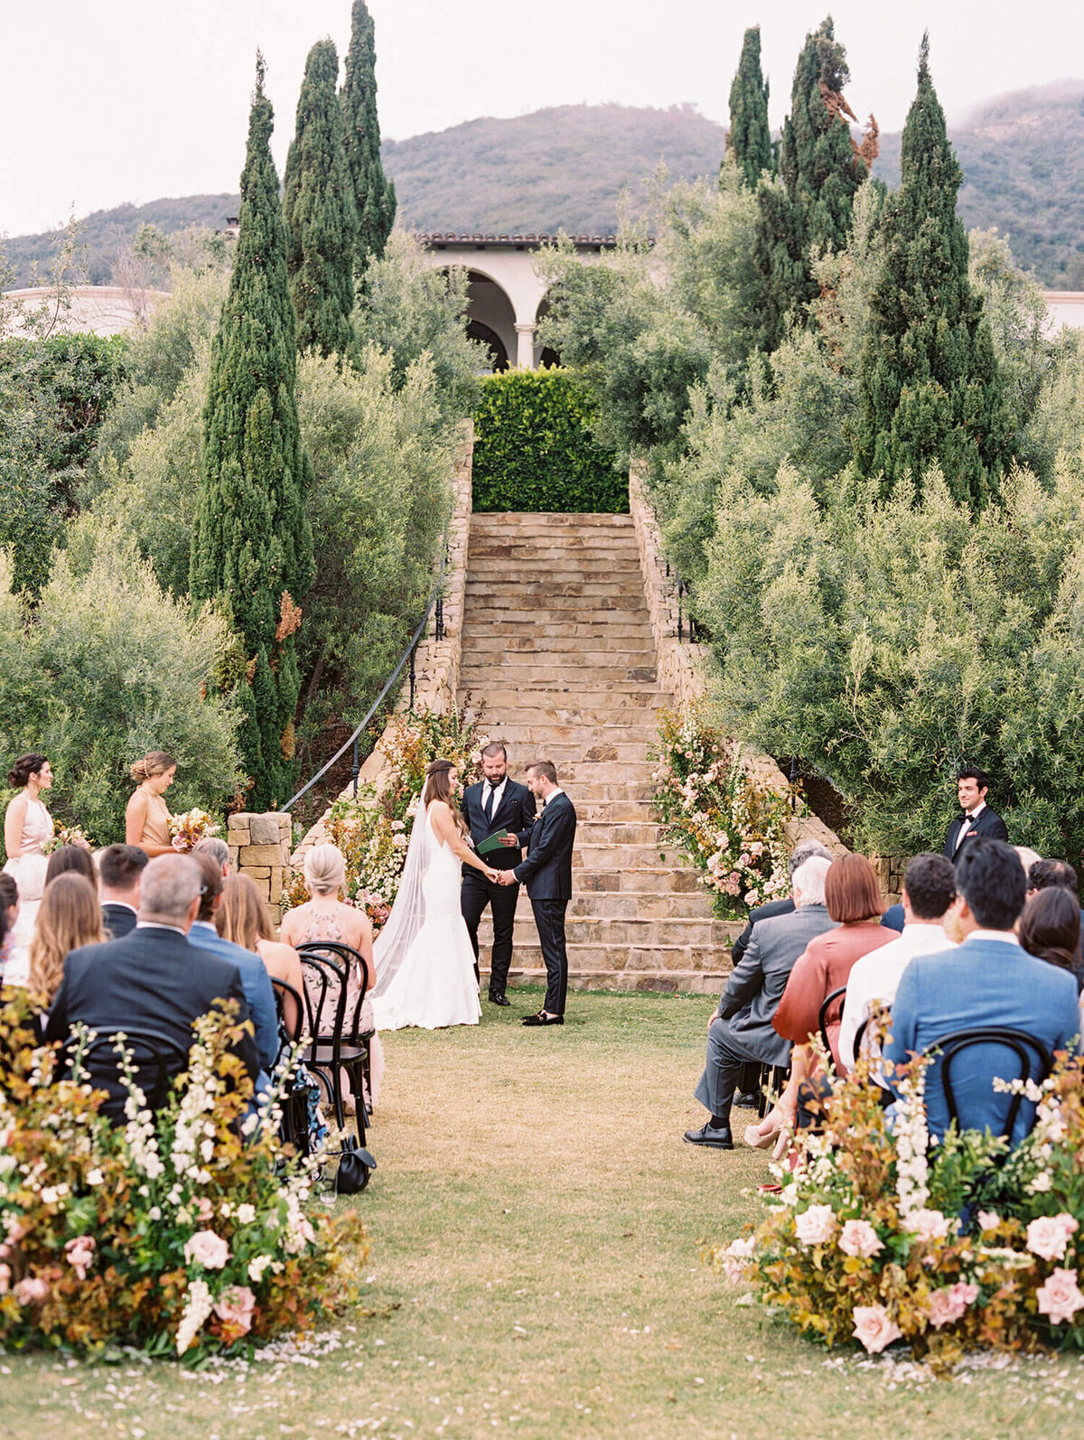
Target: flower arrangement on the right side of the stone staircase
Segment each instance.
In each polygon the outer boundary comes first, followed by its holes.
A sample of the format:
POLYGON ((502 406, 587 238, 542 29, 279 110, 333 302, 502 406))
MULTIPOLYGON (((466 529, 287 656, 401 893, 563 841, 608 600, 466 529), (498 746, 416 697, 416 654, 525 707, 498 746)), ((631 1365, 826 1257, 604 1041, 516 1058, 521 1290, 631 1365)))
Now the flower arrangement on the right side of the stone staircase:
POLYGON ((739 747, 700 703, 665 711, 659 724, 654 811, 669 840, 703 871, 715 910, 740 916, 789 893, 787 822, 793 792, 757 785, 739 747))

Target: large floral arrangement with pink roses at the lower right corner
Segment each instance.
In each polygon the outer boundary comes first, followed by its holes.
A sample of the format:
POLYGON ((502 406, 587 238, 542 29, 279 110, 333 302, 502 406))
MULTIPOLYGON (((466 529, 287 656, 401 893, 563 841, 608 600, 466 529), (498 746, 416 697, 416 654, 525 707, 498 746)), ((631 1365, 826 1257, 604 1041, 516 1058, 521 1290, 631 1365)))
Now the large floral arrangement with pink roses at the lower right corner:
POLYGON ((803 1133, 796 1169, 773 1168, 764 1223, 710 1250, 717 1269, 809 1336, 868 1354, 904 1341, 934 1371, 976 1348, 1084 1346, 1084 1060, 1012 1086, 1036 1122, 1008 1155, 954 1126, 927 1143, 917 1061, 894 1122, 868 1071, 832 1081, 822 1132, 803 1133))

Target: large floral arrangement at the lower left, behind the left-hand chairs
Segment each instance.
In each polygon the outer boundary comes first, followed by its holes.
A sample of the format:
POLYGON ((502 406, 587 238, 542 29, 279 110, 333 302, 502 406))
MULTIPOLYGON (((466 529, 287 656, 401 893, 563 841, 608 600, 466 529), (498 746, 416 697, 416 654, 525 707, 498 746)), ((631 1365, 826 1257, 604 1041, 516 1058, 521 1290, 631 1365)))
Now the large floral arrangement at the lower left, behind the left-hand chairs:
POLYGON ((307 1214, 321 1155, 298 1161, 274 1097, 230 1053, 223 1007, 196 1025, 189 1071, 151 1113, 124 1058, 127 1123, 59 1074, 30 1007, 0 1005, 0 1344, 200 1358, 304 1329, 356 1293, 356 1211, 307 1214))

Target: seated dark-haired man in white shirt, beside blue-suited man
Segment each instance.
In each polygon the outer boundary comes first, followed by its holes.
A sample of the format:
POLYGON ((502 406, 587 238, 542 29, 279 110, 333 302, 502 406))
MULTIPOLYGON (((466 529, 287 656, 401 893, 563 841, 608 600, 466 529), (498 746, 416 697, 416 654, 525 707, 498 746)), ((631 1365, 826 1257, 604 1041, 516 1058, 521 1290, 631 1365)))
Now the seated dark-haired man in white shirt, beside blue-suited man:
MULTIPOLYGON (((907 864, 903 887, 903 932, 897 939, 855 960, 846 981, 846 999, 839 1025, 839 1058, 846 1070, 855 1067, 855 1035, 875 1005, 890 1007, 900 976, 916 955, 954 950, 943 927, 956 899, 956 870, 944 855, 926 852, 907 864)), ((865 1045, 874 1051, 875 1047, 865 1045)))

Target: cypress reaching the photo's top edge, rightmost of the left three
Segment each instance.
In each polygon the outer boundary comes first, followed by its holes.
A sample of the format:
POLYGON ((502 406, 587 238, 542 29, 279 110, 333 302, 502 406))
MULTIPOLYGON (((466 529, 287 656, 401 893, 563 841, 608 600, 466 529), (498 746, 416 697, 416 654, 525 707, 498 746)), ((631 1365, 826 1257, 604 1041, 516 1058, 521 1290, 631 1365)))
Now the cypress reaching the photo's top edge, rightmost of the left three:
POLYGON ((357 206, 357 262, 364 275, 370 255, 384 253, 396 220, 396 187, 380 164, 380 120, 376 112, 376 39, 366 0, 354 0, 350 49, 343 75, 343 122, 347 167, 357 206))

